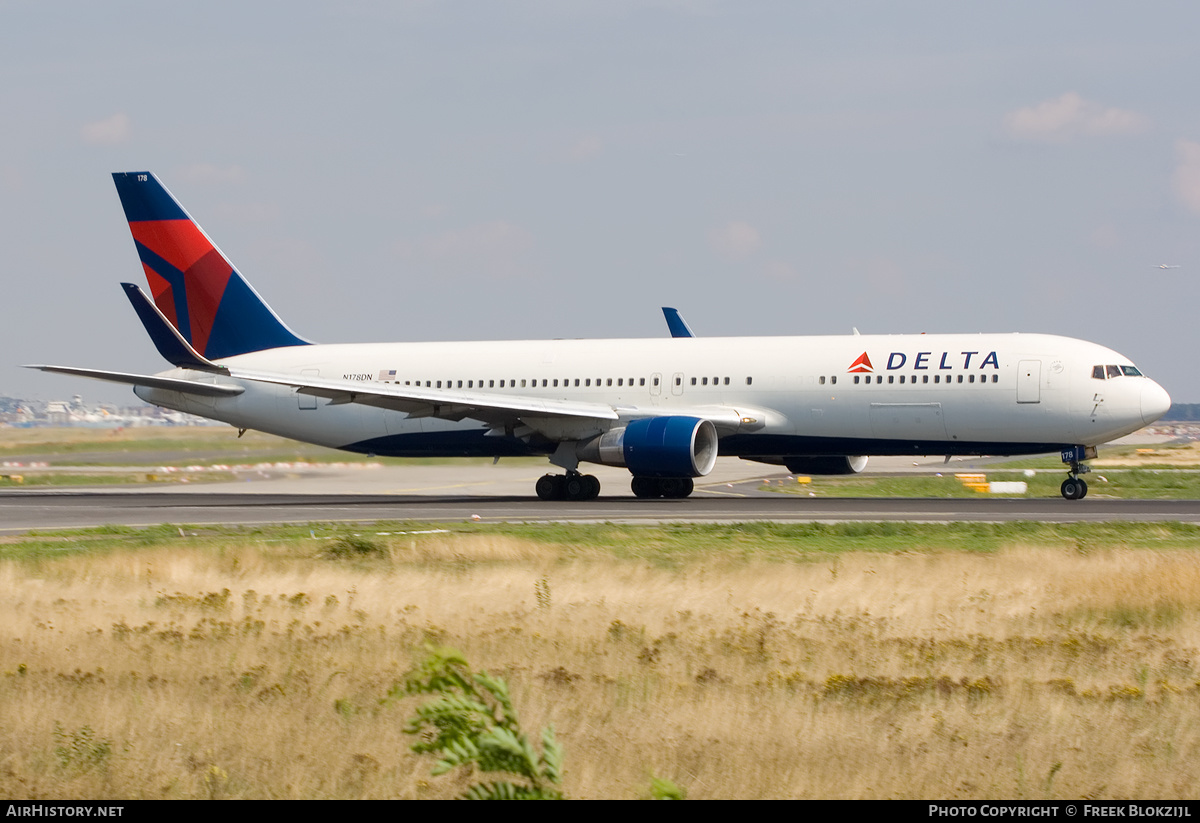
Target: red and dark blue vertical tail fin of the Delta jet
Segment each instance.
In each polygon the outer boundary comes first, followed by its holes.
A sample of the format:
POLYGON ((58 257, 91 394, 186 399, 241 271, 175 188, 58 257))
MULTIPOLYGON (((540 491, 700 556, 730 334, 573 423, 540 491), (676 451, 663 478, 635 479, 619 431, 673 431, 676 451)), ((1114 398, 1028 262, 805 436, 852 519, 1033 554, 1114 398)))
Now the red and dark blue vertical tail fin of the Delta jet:
POLYGON ((155 306, 203 358, 305 346, 150 172, 113 174, 155 306))

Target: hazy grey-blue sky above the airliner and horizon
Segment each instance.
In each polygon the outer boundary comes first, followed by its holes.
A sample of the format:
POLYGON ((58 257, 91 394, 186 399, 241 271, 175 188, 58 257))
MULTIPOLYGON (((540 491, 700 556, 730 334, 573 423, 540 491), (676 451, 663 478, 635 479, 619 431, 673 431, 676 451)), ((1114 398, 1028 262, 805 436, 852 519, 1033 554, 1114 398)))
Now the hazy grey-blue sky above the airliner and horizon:
POLYGON ((1200 402, 1200 4, 0 0, 0 395, 166 367, 110 172, 319 342, 1042 331, 1200 402), (1178 269, 1158 269, 1159 264, 1178 269))

